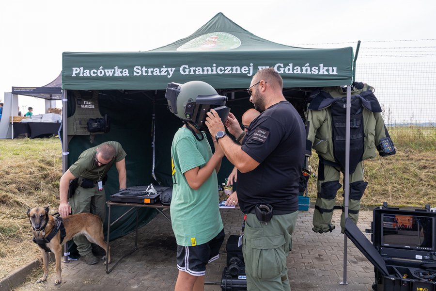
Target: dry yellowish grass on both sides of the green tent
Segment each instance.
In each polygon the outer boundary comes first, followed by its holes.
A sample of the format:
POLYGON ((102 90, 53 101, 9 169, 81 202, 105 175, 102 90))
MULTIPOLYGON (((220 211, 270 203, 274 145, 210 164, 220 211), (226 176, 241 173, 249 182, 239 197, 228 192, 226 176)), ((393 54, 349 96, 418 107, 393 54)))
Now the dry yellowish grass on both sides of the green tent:
MULTIPOLYGON (((365 161, 368 188, 362 198, 372 208, 436 206, 436 132, 413 134, 390 130, 397 154, 365 161)), ((40 257, 31 242, 28 207, 59 205, 62 149, 58 138, 0 140, 0 279, 10 271, 40 257)), ((316 175, 318 158, 310 160, 316 175)), ((309 181, 311 202, 316 199, 316 177, 309 181)), ((337 204, 342 203, 341 190, 337 204)))

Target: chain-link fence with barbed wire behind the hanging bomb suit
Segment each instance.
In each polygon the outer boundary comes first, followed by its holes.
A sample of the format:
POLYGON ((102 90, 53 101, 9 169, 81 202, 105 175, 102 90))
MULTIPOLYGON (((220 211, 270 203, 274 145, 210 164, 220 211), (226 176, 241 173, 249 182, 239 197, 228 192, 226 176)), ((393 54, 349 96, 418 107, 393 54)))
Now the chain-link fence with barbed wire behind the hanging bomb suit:
MULTIPOLYGON (((357 47, 355 42, 297 47, 357 47)), ((362 41, 356 81, 375 88, 389 132, 436 139, 436 39, 362 41)), ((355 51, 356 53, 356 51, 355 51)))

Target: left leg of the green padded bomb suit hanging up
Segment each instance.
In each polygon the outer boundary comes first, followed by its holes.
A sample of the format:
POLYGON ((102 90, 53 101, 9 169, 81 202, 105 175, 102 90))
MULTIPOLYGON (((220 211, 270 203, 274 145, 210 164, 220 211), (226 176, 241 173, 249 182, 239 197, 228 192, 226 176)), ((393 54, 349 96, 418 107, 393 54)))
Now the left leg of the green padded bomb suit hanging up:
POLYGON ((313 213, 314 232, 324 233, 332 231, 331 217, 336 202, 336 192, 341 189, 339 171, 334 167, 319 163, 318 165, 318 197, 316 198, 313 213))

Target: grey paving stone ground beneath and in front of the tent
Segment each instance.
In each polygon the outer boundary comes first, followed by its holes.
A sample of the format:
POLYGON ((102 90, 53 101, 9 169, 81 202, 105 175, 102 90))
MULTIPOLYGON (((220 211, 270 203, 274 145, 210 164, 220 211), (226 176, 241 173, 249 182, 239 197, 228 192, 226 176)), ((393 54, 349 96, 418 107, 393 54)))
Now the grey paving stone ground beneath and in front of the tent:
MULTIPOLYGON (((167 215, 169 211, 165 210, 167 215)), ((311 230, 313 209, 300 211, 293 237, 293 250, 289 255, 288 276, 293 291, 342 290, 371 291, 374 281, 374 267, 354 244, 348 240, 347 282, 343 281, 343 234, 341 234, 340 211, 335 211, 332 233, 317 234, 311 230)), ((239 210, 221 209, 226 239, 231 234, 239 234, 242 214, 239 210)), ((369 228, 372 211, 360 211, 358 227, 364 232, 369 228)), ((162 215, 157 215, 147 226, 139 229, 139 250, 123 259, 115 269, 106 274, 103 261, 96 265, 71 261, 62 263, 62 284, 53 286, 55 272, 50 271, 47 281, 36 284, 28 282, 19 290, 62 290, 62 291, 170 291, 174 290, 177 278, 175 262, 176 242, 171 223, 162 215)), ((366 234, 369 239, 369 235, 366 234)), ((111 242, 112 262, 133 249, 135 234, 111 242)), ((110 266, 110 265, 109 265, 110 266)), ((225 254, 207 266, 206 282, 221 280, 226 266, 225 254)), ((220 291, 218 285, 206 285, 206 291, 220 291)))

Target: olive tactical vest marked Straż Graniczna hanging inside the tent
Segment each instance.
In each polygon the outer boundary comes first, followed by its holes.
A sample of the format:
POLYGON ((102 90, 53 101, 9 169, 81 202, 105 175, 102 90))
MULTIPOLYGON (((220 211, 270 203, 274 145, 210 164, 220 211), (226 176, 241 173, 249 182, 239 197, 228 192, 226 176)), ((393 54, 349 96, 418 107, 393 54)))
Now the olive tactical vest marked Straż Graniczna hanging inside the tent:
POLYGON ((98 109, 98 91, 92 91, 91 96, 82 96, 74 90, 73 115, 68 117, 68 135, 91 135, 109 131, 107 115, 103 117, 98 109))

